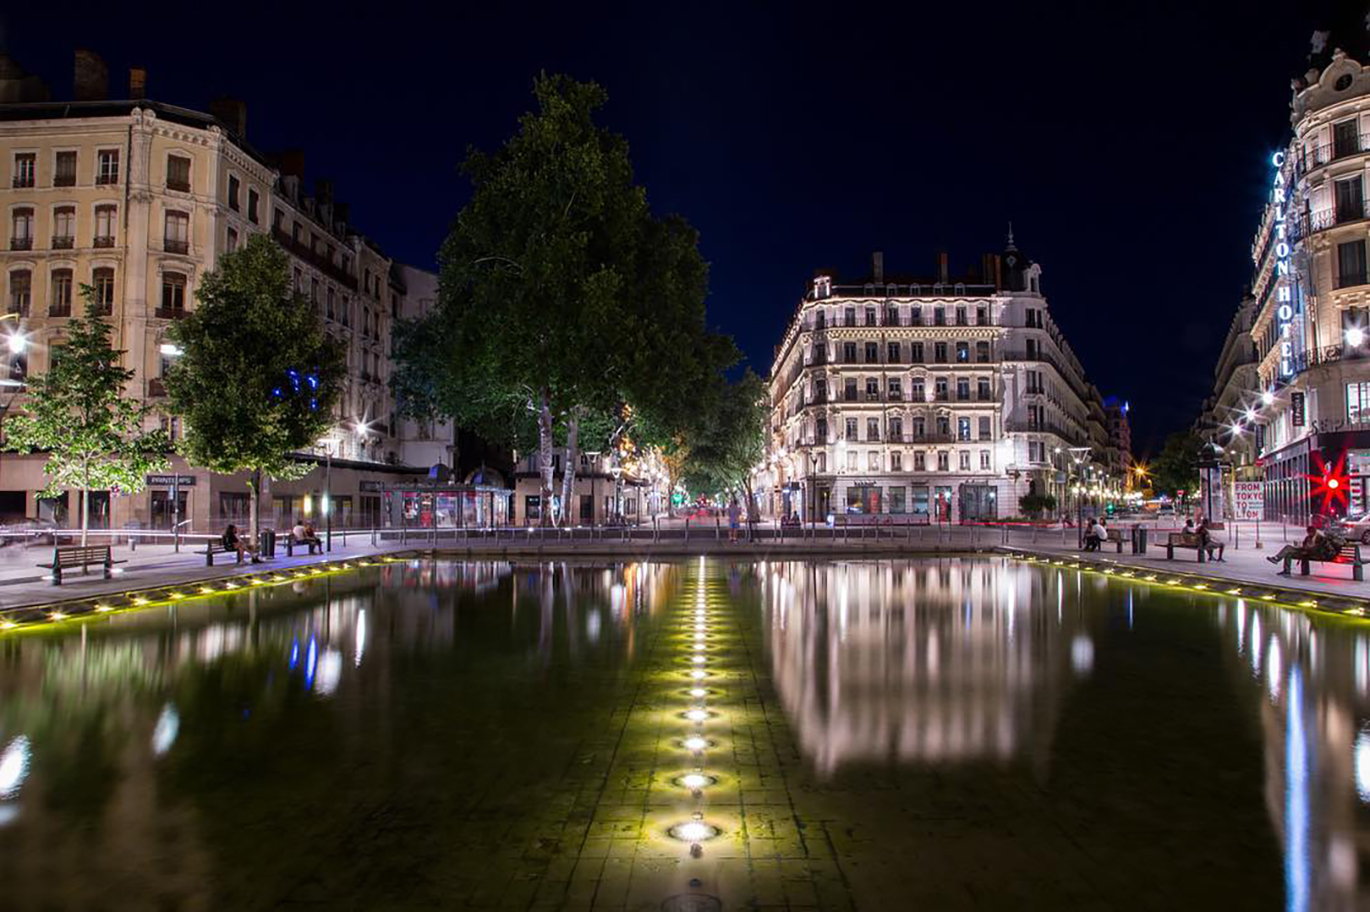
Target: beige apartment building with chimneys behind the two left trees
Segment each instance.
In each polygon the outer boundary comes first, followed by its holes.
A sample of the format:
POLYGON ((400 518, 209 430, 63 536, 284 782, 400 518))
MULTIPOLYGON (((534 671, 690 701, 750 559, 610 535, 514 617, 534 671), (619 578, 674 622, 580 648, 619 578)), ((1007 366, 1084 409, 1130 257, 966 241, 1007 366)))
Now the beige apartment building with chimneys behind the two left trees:
MULTIPOLYGON (((297 482, 271 483, 263 516, 321 520, 332 487, 334 524, 377 522, 381 490, 416 474, 404 466, 388 386, 390 329, 406 309, 408 282, 432 293, 423 279, 432 274, 401 268, 360 234, 332 182, 316 181, 308 194, 301 155, 269 159, 249 145, 241 103, 200 112, 148 100, 138 70, 129 97, 108 100, 99 58, 77 52, 75 64, 74 101, 41 100, 12 62, 0 66, 0 99, 16 99, 0 104, 0 286, 4 309, 16 318, 11 331, 26 341, 23 351, 4 352, 0 375, 22 383, 44 372, 67 320, 81 314, 81 286, 90 285, 134 371, 129 396, 162 403, 162 378, 177 356, 167 330, 195 309, 199 283, 223 253, 249 234, 270 233, 290 256, 297 290, 345 345, 348 370, 334 430, 300 453, 318 468, 297 482)), ((0 409, 22 403, 22 386, 0 388, 0 409)), ((158 420, 173 437, 181 433, 177 416, 158 420)), ((74 496, 37 498, 42 461, 3 457, 0 519, 75 520, 74 496)), ((148 482, 137 494, 96 493, 92 523, 169 527, 179 518, 218 529, 248 515, 242 477, 175 459, 171 471, 148 482)))

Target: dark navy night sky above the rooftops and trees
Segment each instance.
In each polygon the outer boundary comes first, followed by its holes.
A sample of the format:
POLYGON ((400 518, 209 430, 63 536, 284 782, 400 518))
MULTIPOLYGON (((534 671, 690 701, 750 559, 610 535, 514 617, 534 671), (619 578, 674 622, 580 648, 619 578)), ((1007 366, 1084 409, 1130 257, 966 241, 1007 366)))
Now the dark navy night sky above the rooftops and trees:
MULTIPOLYGON (((432 267, 469 192, 456 166, 496 147, 538 70, 606 86, 659 212, 711 262, 710 316, 751 364, 815 268, 952 270, 1012 220, 1056 322, 1134 449, 1186 427, 1249 281, 1289 81, 1326 8, 1307 4, 730 3, 7 4, 0 42, 71 92, 71 51, 149 70, 149 97, 248 103, 248 140, 306 149, 352 222, 432 267), (381 5, 385 12, 378 14, 381 5), (893 4, 889 4, 893 5, 893 4)), ((1356 3, 1355 5, 1363 5, 1356 3)))

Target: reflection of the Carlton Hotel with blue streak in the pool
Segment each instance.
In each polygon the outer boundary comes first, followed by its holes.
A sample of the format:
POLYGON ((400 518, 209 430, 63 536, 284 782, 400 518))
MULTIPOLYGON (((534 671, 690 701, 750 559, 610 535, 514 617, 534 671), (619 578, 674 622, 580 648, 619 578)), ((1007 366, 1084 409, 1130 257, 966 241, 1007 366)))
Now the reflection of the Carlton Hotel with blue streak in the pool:
POLYGON ((1284 852, 1286 908, 1365 908, 1370 637, 1247 600, 1225 600, 1218 624, 1240 689, 1260 694, 1263 791, 1284 852))

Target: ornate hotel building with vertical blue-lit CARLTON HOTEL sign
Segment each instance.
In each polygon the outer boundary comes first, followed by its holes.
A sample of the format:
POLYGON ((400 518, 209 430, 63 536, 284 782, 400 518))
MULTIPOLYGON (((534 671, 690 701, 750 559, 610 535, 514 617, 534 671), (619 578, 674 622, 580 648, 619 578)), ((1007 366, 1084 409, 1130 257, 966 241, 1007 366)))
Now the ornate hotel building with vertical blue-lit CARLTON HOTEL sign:
POLYGON ((1370 66, 1330 44, 1310 60, 1252 242, 1254 385, 1210 419, 1254 455, 1266 516, 1293 522, 1370 505, 1370 66), (1338 466, 1345 496, 1311 497, 1338 466))

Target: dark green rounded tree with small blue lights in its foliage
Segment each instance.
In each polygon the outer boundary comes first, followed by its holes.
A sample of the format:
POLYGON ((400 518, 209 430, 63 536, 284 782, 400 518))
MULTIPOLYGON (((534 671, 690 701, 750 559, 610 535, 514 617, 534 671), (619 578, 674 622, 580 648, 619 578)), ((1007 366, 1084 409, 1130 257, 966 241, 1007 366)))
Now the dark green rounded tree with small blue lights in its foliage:
POLYGON ((204 277, 197 308, 170 330, 181 355, 166 377, 185 419, 181 452, 215 472, 251 475, 252 535, 260 531, 262 478, 292 479, 292 457, 334 423, 341 345, 295 290, 281 246, 255 234, 204 277))

